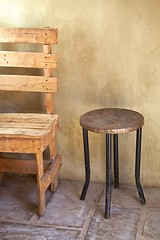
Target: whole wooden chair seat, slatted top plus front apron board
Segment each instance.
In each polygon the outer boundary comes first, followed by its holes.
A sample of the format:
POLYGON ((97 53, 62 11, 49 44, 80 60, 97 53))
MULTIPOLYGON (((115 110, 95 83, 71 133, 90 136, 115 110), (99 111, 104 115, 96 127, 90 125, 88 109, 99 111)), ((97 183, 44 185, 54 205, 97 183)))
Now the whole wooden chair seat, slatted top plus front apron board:
POLYGON ((0 152, 42 152, 57 127, 58 115, 0 113, 0 152))

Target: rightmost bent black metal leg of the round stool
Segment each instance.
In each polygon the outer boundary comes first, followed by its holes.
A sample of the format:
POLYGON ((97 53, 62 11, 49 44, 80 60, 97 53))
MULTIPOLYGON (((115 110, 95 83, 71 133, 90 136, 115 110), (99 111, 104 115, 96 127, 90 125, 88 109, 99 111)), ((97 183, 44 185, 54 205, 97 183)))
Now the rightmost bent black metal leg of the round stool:
POLYGON ((141 137, 142 137, 142 128, 139 128, 137 130, 137 135, 136 135, 135 180, 136 180, 136 186, 137 186, 141 203, 145 204, 146 200, 145 200, 143 189, 140 183, 141 137))

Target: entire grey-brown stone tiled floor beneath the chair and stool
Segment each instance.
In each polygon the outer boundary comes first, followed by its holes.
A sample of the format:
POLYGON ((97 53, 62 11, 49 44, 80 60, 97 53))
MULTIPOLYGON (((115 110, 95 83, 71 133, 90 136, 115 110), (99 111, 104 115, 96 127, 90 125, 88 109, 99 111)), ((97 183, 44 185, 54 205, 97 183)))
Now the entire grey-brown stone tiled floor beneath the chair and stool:
POLYGON ((60 181, 46 193, 47 210, 37 216, 36 181, 9 175, 0 186, 0 239, 3 240, 151 240, 160 239, 160 189, 145 188, 147 204, 135 187, 112 189, 111 218, 104 219, 104 184, 91 183, 85 201, 82 182, 60 181))

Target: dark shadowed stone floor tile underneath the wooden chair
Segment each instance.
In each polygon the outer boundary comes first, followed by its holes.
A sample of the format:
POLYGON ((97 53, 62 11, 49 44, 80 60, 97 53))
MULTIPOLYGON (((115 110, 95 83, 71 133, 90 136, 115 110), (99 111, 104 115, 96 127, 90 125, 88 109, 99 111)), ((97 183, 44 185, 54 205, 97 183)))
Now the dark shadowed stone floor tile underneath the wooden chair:
MULTIPOLYGON (((0 220, 29 221, 37 215, 37 187, 33 176, 6 175, 0 186, 0 220)), ((46 200, 51 197, 46 192, 46 200)))

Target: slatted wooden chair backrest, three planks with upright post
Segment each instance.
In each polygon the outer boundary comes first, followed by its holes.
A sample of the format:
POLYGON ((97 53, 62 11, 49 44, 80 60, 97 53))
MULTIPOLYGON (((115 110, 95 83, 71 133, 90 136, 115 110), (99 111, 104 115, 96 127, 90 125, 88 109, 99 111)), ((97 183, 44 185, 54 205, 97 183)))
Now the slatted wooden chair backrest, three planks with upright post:
MULTIPOLYGON (((11 74, 5 71, 0 74, 0 90, 28 91, 46 93, 46 112, 54 112, 53 94, 57 92, 57 78, 52 75, 57 67, 57 55, 52 53, 52 44, 58 43, 58 30, 51 28, 0 28, 0 67, 18 69, 39 69, 38 75, 11 74), (12 50, 12 45, 18 44, 18 49, 12 50), (41 52, 37 50, 21 50, 19 44, 42 45, 41 52), (9 50, 6 49, 6 45, 9 50), (3 47, 4 46, 4 47, 3 47), (43 69, 43 74, 40 69, 43 69)), ((16 45, 17 46, 17 45, 16 45)), ((25 49, 25 47, 24 47, 25 49)), ((33 49, 36 49, 34 47, 33 49)), ((34 71, 33 71, 34 72, 34 71)))

